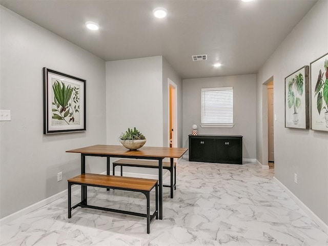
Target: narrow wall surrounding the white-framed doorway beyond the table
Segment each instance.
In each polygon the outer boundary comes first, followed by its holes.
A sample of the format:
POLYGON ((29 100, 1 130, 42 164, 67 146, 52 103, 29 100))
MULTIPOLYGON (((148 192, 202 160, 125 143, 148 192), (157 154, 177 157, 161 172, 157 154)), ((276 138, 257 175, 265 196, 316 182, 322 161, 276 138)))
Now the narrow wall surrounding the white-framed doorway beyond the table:
POLYGON ((176 84, 177 92, 177 144, 182 148, 182 79, 163 57, 163 147, 170 147, 169 143, 169 85, 168 78, 176 84))

